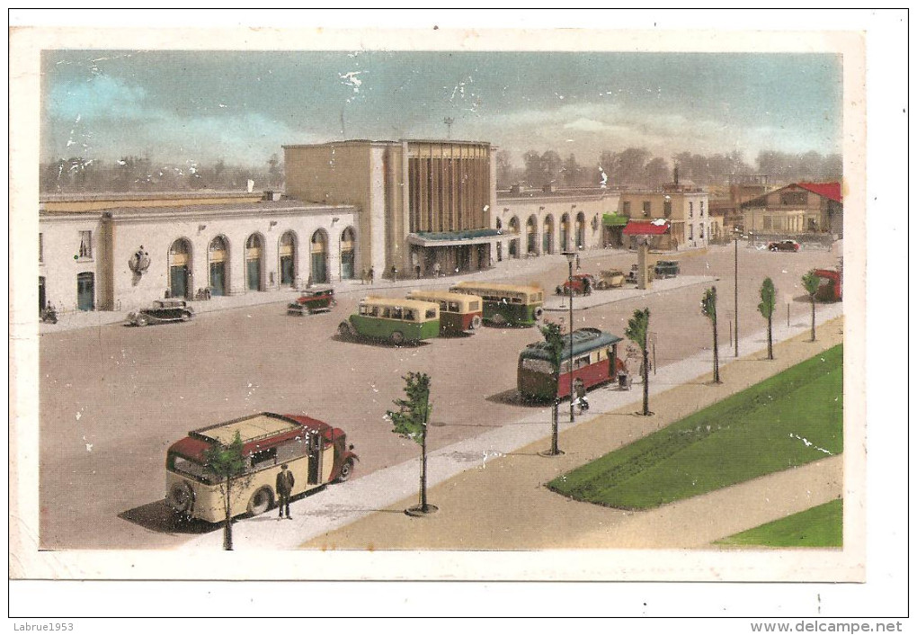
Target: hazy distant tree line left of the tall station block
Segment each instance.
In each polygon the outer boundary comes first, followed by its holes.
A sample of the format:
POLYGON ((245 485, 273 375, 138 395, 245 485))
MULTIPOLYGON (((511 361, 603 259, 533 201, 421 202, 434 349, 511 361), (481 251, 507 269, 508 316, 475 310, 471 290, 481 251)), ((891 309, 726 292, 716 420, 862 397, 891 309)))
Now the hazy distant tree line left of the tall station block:
POLYGON ((116 162, 70 157, 42 163, 39 191, 43 194, 80 192, 164 192, 189 190, 246 190, 282 187, 283 165, 276 154, 263 168, 231 165, 224 160, 157 162, 149 157, 125 156, 116 162))

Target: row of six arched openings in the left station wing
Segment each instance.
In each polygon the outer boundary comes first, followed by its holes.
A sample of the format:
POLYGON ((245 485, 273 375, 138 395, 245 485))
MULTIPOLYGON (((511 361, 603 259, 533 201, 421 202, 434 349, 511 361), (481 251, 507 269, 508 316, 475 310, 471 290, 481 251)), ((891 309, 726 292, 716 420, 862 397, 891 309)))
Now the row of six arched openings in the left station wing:
MULTIPOLYGON (((339 237, 340 277, 354 277, 356 253, 356 234, 348 227, 339 237)), ((243 251, 243 267, 246 291, 264 291, 268 286, 266 271, 265 239, 260 232, 249 234, 243 251)), ((316 284, 330 282, 329 273, 329 240, 325 229, 317 229, 309 240, 309 271, 311 281, 316 284)), ((277 272, 281 286, 293 286, 299 272, 299 238, 293 230, 284 232, 277 245, 277 272)), ((231 292, 230 266, 233 262, 232 251, 226 235, 215 236, 207 243, 207 280, 206 284, 197 283, 198 287, 206 286, 211 295, 229 295, 231 292)), ((191 240, 180 238, 174 240, 169 248, 169 293, 172 297, 192 297, 193 282, 193 246, 191 240)), ((273 284, 273 280, 271 280, 273 284)))

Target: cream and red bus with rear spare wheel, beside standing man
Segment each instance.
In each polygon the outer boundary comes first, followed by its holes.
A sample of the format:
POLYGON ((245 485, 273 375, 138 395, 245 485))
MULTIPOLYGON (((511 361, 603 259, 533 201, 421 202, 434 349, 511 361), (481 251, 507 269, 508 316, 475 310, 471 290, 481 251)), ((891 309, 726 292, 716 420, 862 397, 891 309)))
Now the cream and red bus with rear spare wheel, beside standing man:
POLYGON ((295 478, 292 496, 334 481, 346 481, 358 460, 344 430, 299 415, 258 415, 192 430, 166 453, 166 500, 186 518, 218 522, 226 518, 223 483, 206 464, 217 443, 229 445, 238 432, 246 472, 231 492, 233 517, 257 516, 277 501, 275 485, 281 465, 295 478))

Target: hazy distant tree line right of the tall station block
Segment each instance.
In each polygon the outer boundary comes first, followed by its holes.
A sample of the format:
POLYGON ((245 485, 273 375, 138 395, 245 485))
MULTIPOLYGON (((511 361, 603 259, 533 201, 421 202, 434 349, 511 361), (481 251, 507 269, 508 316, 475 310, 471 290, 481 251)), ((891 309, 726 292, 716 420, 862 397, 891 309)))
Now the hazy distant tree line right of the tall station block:
POLYGON ((679 183, 699 186, 728 185, 751 174, 769 177, 772 184, 799 181, 834 181, 841 178, 840 154, 824 156, 818 152, 794 154, 776 150, 758 153, 756 164, 749 165, 737 150, 728 154, 692 154, 679 152, 671 161, 654 157, 643 148, 605 150, 598 162, 580 164, 576 156, 566 159, 555 150, 539 153, 529 150, 523 155, 523 166, 517 167, 506 150, 497 152, 497 187, 505 189, 513 184, 542 188, 547 184, 556 187, 660 187, 672 183, 674 168, 679 169, 679 183))

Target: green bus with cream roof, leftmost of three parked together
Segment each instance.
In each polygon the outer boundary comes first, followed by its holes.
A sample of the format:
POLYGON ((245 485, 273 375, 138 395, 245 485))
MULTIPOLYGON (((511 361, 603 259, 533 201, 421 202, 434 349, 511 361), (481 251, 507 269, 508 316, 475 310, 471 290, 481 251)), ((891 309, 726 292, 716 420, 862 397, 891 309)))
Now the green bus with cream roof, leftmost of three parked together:
POLYGON ((359 301, 357 313, 341 322, 337 332, 345 337, 389 340, 393 344, 429 340, 439 335, 439 305, 370 295, 359 301))

